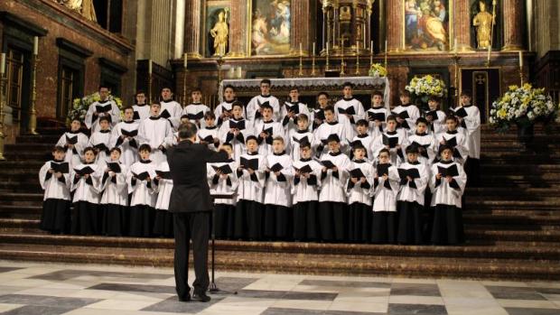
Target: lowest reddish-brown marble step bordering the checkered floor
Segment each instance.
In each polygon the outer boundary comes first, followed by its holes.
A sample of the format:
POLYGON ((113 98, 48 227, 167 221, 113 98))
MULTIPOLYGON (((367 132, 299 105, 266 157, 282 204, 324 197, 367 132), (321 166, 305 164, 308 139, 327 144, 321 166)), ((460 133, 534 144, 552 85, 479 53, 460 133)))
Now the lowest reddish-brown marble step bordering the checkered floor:
MULTIPOLYGON (((149 249, 138 252, 122 249, 107 253, 105 247, 0 245, 4 259, 64 263, 126 264, 172 266, 173 250, 149 249)), ((314 255, 219 251, 216 266, 220 271, 266 273, 313 273, 352 275, 400 275, 413 277, 455 277, 492 279, 560 279, 555 261, 527 264, 525 260, 453 259, 392 257, 383 255, 314 255)))

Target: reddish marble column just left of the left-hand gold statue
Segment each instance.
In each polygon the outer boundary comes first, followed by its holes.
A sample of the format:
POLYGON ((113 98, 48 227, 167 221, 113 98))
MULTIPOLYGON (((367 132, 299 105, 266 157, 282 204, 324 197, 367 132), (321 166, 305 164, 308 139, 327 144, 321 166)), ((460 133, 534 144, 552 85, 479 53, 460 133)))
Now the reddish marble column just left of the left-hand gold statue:
POLYGON ((189 58, 201 58, 201 1, 190 0, 185 3, 185 40, 184 52, 189 58))

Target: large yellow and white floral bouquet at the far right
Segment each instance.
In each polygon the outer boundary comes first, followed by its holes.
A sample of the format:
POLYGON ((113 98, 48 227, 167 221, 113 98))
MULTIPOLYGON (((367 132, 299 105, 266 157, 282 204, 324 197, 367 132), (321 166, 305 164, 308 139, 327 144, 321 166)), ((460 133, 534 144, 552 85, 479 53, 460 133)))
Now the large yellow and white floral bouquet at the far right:
POLYGON ((509 90, 490 108, 491 125, 500 132, 509 129, 509 125, 534 125, 537 120, 554 119, 560 109, 546 96, 544 88, 533 88, 526 83, 523 87, 510 86, 509 90))

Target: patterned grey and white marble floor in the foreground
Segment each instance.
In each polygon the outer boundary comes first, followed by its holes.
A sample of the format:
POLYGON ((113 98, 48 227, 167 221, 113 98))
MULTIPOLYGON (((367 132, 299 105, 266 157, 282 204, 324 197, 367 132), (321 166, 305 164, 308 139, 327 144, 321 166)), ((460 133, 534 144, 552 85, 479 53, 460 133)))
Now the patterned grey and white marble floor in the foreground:
POLYGON ((216 283, 229 292, 184 303, 172 269, 0 261, 0 314, 560 314, 560 283, 221 272, 216 283))

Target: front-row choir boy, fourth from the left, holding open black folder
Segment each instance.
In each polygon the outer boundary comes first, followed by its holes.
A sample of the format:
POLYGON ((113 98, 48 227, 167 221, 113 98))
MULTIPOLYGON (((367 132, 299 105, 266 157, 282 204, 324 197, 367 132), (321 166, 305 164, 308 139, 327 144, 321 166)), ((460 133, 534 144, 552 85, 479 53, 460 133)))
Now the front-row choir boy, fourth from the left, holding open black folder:
MULTIPOLYGON (((149 119, 149 118, 148 118, 149 119)), ((152 236, 155 217, 156 190, 154 179, 157 164, 150 160, 152 148, 149 144, 142 144, 138 148, 140 161, 135 162, 128 169, 126 182, 130 199, 130 236, 152 236)))

